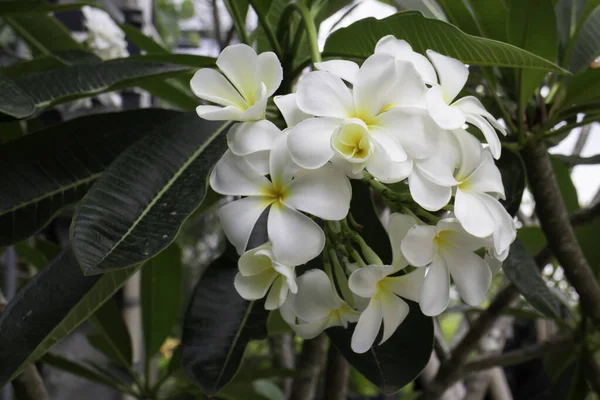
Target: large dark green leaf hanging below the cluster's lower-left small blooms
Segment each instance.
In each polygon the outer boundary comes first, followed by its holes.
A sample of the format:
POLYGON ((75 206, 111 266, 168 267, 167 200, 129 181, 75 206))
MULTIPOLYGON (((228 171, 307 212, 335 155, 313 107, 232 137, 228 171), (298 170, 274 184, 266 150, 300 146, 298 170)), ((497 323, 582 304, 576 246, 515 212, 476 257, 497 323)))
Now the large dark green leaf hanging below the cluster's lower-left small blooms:
POLYGON ((248 342, 267 336, 264 303, 240 297, 233 286, 237 272, 226 255, 214 261, 194 289, 183 324, 183 366, 209 395, 233 379, 248 342))

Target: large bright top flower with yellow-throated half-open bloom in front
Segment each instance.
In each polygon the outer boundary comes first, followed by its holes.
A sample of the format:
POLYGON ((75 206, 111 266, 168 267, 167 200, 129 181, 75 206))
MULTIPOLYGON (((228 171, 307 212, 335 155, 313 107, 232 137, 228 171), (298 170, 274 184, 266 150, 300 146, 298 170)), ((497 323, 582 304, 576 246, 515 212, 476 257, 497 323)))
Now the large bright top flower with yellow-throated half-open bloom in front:
MULTIPOLYGON (((335 69, 326 63, 320 67, 335 69)), ((410 65, 404 70, 410 69, 414 71, 410 65)), ((292 129, 288 147, 294 161, 313 169, 331 160, 350 165, 351 173, 366 168, 382 182, 405 179, 412 168, 407 162, 409 149, 426 152, 434 146, 419 119, 427 117, 426 111, 418 108, 425 84, 416 72, 414 79, 407 79, 398 76, 397 70, 393 57, 375 54, 356 76, 347 78, 353 80, 352 89, 338 76, 343 75, 339 71, 314 71, 304 76, 298 85, 297 104, 316 118, 292 129)), ((346 75, 351 74, 346 71, 346 75)))

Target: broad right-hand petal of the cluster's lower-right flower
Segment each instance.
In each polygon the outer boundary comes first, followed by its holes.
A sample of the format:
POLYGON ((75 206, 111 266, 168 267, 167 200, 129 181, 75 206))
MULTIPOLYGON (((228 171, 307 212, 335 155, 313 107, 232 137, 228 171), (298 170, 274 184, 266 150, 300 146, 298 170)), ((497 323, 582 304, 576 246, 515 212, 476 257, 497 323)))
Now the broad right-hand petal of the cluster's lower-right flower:
POLYGON ((481 304, 492 283, 490 267, 470 251, 446 249, 443 253, 460 297, 470 306, 481 304))

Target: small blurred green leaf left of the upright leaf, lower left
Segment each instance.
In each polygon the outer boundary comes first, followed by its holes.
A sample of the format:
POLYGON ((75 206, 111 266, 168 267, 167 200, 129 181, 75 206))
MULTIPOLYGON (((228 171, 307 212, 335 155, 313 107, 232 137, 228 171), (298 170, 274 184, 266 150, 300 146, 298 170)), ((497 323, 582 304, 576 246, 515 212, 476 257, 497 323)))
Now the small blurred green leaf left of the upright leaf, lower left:
POLYGON ((99 348, 108 349, 105 354, 117 364, 130 367, 133 360, 131 335, 116 301, 110 299, 104 303, 89 322, 97 333, 99 348))

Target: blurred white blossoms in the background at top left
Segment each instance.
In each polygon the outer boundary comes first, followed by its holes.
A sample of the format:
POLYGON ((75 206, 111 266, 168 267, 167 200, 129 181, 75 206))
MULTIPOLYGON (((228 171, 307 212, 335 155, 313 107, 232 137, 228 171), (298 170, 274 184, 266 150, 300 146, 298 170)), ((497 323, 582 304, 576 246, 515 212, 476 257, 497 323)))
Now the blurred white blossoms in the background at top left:
POLYGON ((87 45, 103 60, 129 56, 125 32, 108 13, 98 8, 83 6, 81 12, 88 30, 87 45))

